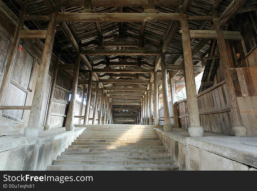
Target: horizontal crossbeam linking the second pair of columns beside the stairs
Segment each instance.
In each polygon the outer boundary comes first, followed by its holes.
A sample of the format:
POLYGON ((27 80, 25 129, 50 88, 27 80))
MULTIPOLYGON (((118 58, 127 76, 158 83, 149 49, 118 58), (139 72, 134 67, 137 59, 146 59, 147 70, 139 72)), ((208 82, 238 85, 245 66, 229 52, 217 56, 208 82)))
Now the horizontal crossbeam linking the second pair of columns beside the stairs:
POLYGON ((81 55, 159 55, 159 50, 81 50, 81 55))

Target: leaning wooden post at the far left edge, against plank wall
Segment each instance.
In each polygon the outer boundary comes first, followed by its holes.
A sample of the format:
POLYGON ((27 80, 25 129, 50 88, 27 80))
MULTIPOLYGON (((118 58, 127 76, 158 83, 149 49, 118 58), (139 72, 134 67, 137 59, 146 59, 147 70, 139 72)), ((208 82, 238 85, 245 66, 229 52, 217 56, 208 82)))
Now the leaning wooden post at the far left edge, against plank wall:
MULTIPOLYGON (((7 57, 7 65, 6 65, 6 69, 4 70, 4 77, 2 80, 2 86, 1 86, 1 90, 0 90, 0 107, 2 105, 4 105, 6 93, 8 91, 8 86, 11 81, 11 74, 13 71, 14 60, 15 60, 17 48, 18 48, 19 41, 20 41, 19 34, 20 34, 21 29, 23 29, 23 24, 24 24, 24 20, 23 20, 24 14, 25 14, 25 9, 23 8, 21 13, 19 14, 19 22, 18 22, 18 26, 15 30, 15 34, 13 36, 13 42, 12 42, 12 46, 10 49, 10 55, 7 57)), ((0 110, 0 118, 2 117, 2 113, 3 113, 3 110, 1 109, 0 110)))

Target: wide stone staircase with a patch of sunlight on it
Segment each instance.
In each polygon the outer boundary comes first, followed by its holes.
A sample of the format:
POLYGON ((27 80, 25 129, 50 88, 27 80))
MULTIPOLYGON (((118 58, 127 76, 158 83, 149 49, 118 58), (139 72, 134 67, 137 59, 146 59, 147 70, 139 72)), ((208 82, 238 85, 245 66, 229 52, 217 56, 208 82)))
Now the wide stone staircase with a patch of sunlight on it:
POLYGON ((47 169, 178 170, 154 127, 87 125, 47 169))

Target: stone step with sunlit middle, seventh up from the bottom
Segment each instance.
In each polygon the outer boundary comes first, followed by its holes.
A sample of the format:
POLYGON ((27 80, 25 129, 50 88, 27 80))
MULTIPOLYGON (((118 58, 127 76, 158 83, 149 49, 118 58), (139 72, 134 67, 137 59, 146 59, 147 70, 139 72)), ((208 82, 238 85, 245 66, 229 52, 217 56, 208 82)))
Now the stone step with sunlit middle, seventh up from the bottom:
POLYGON ((72 145, 163 146, 162 143, 127 143, 127 142, 72 142, 72 145))

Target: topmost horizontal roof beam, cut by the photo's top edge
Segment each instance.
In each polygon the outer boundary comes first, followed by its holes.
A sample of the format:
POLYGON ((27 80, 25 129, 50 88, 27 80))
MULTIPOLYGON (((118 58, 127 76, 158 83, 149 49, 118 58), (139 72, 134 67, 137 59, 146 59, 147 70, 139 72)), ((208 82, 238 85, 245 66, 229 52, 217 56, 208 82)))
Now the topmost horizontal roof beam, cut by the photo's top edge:
MULTIPOLYGON (((146 7, 147 0, 92 0, 93 7, 146 7)), ((154 0, 155 6, 177 7, 181 3, 179 0, 154 0)), ((84 0, 60 0, 61 6, 83 7, 84 0)))

